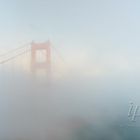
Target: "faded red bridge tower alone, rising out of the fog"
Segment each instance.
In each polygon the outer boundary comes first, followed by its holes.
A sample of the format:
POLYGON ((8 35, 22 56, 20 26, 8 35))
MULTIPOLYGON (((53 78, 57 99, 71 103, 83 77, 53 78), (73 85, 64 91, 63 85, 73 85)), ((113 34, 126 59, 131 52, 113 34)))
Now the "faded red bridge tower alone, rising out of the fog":
POLYGON ((49 74, 51 71, 51 43, 31 43, 31 72, 36 73, 37 70, 43 69, 49 74), (38 52, 44 57, 43 61, 39 61, 38 52))

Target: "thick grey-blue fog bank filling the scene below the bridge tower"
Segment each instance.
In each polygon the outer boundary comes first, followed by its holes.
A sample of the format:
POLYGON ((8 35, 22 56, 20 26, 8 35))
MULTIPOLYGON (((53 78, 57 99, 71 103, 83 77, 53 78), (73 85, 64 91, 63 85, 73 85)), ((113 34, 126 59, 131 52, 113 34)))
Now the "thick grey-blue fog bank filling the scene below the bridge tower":
POLYGON ((1 68, 0 74, 1 140, 140 137, 140 120, 128 118, 130 102, 139 104, 137 76, 88 77, 72 71, 55 78, 53 73, 40 77, 10 68, 1 68))

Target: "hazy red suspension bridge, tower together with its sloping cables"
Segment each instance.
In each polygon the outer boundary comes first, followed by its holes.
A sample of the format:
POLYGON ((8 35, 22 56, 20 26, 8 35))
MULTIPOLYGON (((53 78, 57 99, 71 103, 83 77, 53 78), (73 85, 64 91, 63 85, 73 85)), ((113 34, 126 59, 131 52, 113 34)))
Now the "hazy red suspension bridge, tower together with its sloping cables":
MULTIPOLYGON (((8 64, 13 60, 17 60, 20 56, 29 54, 29 69, 31 73, 37 73, 38 70, 44 70, 46 73, 51 72, 52 63, 52 49, 54 48, 52 43, 48 40, 43 43, 36 43, 34 41, 26 43, 20 47, 9 50, 3 54, 0 54, 0 65, 8 64)), ((61 60, 62 57, 58 56, 61 60)))

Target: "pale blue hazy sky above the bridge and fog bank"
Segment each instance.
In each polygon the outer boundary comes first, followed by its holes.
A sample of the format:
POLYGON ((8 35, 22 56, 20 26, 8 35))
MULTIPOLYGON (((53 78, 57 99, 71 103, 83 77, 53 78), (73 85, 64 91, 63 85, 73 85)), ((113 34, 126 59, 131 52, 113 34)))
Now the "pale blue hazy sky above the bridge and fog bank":
POLYGON ((136 70, 139 6, 139 0, 1 0, 0 48, 50 39, 69 59, 83 55, 94 64, 136 70))

